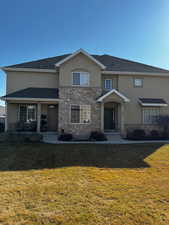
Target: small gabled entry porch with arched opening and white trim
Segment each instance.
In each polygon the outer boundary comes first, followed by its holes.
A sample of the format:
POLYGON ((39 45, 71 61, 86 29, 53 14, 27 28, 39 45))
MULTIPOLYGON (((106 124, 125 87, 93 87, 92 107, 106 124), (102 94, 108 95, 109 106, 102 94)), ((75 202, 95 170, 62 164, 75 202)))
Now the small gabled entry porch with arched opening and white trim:
POLYGON ((101 130, 105 133, 124 133, 125 104, 130 100, 113 89, 102 95, 97 102, 101 104, 101 130))

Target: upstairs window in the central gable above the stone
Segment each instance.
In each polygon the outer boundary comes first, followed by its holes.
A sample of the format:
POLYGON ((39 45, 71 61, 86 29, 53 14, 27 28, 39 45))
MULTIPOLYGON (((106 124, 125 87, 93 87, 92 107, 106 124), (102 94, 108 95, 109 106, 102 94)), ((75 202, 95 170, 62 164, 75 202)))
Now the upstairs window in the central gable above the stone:
POLYGON ((89 73, 88 72, 73 72, 73 82, 75 86, 89 86, 89 73))

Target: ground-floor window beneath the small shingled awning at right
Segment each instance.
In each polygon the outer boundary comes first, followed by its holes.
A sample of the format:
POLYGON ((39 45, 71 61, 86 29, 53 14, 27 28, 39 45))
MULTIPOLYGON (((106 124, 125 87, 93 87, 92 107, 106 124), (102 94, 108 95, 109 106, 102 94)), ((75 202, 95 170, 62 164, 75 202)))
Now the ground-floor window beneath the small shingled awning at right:
POLYGON ((143 124, 155 124, 160 116, 159 108, 143 109, 143 124))

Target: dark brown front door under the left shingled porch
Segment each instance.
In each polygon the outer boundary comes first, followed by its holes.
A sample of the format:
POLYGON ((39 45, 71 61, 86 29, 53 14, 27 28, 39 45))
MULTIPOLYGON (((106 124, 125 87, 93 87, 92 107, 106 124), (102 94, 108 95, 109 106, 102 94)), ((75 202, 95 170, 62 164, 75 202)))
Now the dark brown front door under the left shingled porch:
POLYGON ((48 105, 47 116, 48 131, 57 131, 58 127, 58 106, 48 105))

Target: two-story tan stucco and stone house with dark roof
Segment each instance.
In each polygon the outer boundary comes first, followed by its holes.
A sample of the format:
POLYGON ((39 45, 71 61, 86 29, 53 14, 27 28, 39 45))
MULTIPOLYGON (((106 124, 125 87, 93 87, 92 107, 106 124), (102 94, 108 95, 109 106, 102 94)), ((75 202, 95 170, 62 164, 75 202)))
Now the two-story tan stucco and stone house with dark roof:
POLYGON ((82 49, 2 69, 7 75, 2 97, 6 131, 34 122, 37 132, 125 135, 128 127, 151 126, 155 116, 169 114, 165 69, 82 49))

